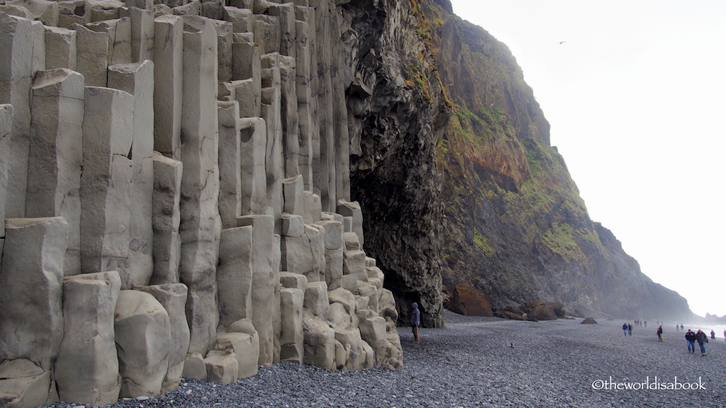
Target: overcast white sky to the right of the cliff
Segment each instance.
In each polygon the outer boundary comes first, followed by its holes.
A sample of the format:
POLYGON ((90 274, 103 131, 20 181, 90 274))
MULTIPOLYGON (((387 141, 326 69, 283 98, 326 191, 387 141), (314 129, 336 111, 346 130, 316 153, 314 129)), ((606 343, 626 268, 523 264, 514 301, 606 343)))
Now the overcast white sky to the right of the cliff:
POLYGON ((725 315, 726 1, 452 4, 509 46, 592 220, 725 315))

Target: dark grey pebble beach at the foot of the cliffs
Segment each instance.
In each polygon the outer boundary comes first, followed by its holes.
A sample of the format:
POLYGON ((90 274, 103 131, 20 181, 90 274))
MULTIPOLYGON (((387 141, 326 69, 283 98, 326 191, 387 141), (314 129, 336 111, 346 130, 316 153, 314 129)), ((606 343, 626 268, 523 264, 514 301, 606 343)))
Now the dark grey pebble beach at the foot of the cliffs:
POLYGON ((164 396, 106 407, 726 407, 722 336, 701 356, 688 354, 675 325, 664 325, 658 342, 652 323, 624 336, 623 321, 581 321, 446 312, 446 327, 421 329, 418 344, 409 327, 399 327, 404 370, 283 363, 232 385, 185 378, 164 396))

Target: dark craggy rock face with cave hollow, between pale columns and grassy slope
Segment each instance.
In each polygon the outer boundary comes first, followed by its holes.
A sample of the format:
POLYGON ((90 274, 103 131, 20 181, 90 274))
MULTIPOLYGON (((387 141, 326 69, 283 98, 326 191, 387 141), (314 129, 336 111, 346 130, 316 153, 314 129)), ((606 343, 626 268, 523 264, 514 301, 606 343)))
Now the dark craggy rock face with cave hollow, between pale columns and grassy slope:
POLYGON ((441 176, 436 145, 449 121, 424 16, 415 1, 351 1, 354 80, 347 90, 351 199, 360 203, 370 256, 386 269, 399 310, 416 301, 423 325, 443 324, 441 176))

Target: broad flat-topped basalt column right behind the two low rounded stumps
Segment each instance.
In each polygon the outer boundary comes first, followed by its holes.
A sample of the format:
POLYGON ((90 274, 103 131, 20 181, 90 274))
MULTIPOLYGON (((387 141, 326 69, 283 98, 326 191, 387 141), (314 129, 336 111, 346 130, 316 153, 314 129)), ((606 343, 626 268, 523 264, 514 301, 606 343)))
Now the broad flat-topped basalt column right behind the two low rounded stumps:
POLYGON ((81 271, 118 271, 129 258, 129 203, 133 163, 134 97, 86 86, 81 175, 81 271))

